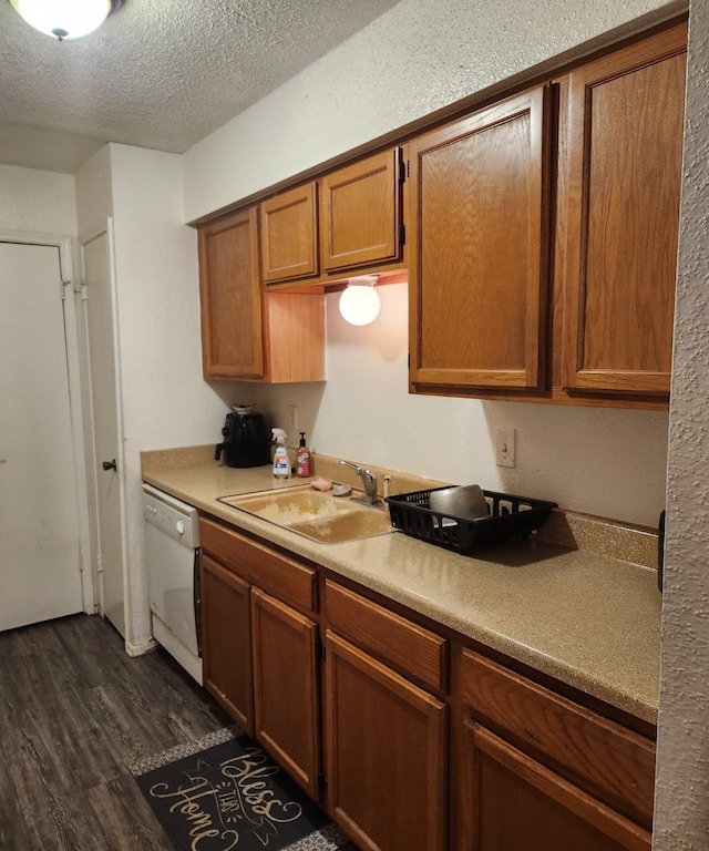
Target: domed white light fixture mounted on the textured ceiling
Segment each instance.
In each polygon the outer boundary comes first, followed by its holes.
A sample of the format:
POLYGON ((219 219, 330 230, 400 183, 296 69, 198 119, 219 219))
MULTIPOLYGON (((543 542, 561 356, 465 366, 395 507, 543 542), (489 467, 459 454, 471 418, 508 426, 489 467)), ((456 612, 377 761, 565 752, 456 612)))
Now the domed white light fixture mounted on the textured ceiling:
POLYGON ((10 0, 30 27, 58 41, 80 39, 97 30, 123 0, 10 0))

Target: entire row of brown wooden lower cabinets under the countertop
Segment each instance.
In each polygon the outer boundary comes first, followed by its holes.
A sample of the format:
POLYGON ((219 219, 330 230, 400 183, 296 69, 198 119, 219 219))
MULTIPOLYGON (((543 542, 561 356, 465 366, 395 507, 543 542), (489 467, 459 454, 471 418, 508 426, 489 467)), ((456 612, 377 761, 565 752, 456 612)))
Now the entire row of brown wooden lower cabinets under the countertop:
POLYGON ((641 722, 226 524, 201 540, 205 687, 361 851, 650 850, 641 722))

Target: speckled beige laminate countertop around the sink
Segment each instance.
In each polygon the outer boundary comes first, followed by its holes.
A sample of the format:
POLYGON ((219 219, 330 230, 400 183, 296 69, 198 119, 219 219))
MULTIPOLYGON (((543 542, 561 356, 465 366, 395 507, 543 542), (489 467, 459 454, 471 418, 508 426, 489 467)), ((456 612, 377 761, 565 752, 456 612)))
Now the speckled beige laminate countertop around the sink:
MULTIPOLYGON (((400 532, 319 544, 218 496, 302 484, 270 468, 147 461, 143 480, 643 720, 657 722, 661 595, 657 575, 536 540, 463 556, 400 532)), ((184 462, 183 462, 184 463, 184 462)), ((412 489, 413 490, 413 489, 412 489)))

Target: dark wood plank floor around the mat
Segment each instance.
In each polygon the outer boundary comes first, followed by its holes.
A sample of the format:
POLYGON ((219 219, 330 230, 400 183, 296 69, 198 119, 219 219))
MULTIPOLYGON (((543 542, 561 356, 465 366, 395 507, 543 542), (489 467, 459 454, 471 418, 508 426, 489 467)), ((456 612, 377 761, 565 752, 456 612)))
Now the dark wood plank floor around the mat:
POLYGON ((229 724, 101 617, 0 633, 0 849, 173 851, 127 766, 229 724))

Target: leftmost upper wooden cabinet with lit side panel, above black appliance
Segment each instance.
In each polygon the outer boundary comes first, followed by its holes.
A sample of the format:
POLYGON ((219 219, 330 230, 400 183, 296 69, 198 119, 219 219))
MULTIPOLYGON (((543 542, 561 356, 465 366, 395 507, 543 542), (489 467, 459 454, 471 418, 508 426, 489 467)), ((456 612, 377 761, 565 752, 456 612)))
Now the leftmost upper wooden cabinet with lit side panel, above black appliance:
POLYGON ((204 377, 323 380, 323 297, 263 291, 257 207, 203 225, 198 243, 204 377))

